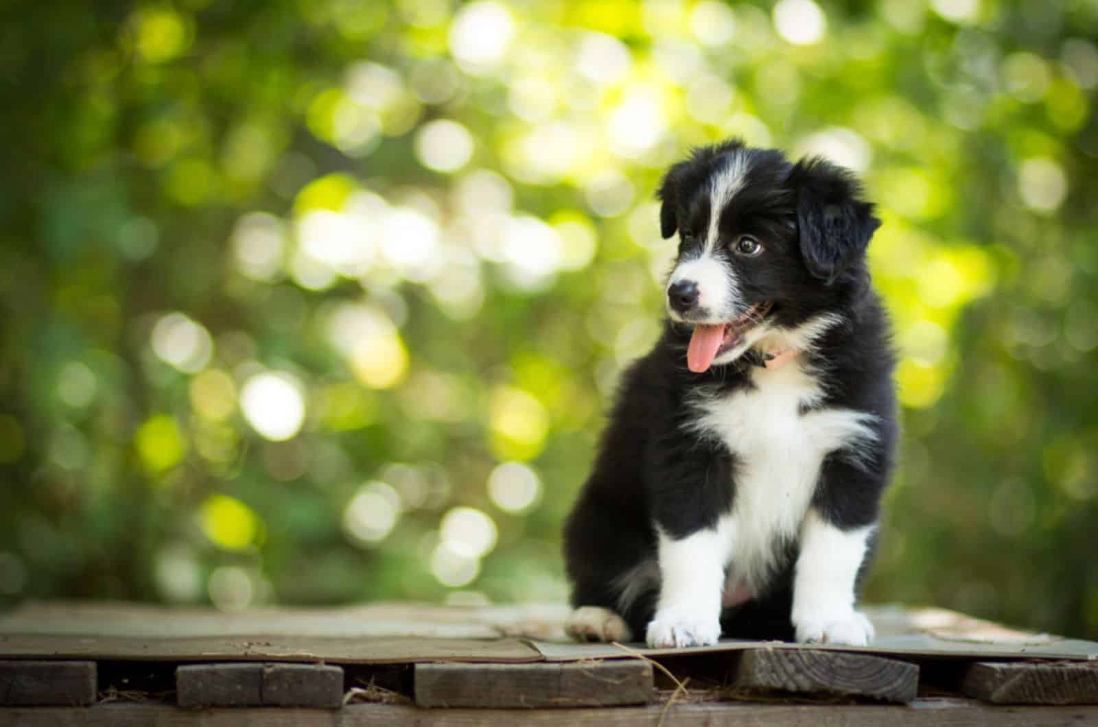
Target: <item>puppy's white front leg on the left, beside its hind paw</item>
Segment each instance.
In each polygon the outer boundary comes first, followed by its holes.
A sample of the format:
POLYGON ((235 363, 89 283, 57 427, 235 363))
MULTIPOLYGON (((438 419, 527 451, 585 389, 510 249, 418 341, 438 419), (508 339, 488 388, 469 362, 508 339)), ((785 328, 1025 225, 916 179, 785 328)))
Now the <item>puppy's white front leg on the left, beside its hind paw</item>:
POLYGON ((716 528, 683 538, 660 533, 660 599, 648 625, 653 648, 706 646, 720 638, 727 538, 716 528))

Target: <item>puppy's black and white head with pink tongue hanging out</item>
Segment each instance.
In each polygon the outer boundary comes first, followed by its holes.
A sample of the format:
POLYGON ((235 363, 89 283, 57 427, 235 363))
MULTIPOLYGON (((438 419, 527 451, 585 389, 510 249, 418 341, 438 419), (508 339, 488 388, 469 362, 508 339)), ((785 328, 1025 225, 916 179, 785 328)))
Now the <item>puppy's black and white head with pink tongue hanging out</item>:
POLYGON ((881 224, 847 170, 737 141, 671 167, 659 197, 663 236, 680 237, 668 312, 693 326, 694 371, 838 312, 865 278, 881 224))

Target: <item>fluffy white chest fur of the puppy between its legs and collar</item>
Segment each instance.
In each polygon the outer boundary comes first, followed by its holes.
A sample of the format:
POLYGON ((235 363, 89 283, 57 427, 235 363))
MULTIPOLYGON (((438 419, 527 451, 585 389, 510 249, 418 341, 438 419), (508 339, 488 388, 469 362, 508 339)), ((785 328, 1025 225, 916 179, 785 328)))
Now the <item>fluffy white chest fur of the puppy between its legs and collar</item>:
POLYGON ((818 404, 819 381, 799 360, 776 370, 753 369, 753 389, 695 403, 697 434, 717 437, 735 456, 731 511, 721 515, 726 599, 758 593, 776 564, 782 540, 797 537, 828 452, 873 435, 872 415, 818 404))

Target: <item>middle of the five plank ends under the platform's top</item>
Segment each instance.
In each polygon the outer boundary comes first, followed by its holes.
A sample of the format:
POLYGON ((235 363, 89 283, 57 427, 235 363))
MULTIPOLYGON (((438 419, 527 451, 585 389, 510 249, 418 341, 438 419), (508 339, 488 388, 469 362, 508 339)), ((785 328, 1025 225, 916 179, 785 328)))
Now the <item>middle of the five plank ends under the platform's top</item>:
POLYGON ((568 707, 645 704, 654 697, 647 661, 415 667, 421 707, 568 707))

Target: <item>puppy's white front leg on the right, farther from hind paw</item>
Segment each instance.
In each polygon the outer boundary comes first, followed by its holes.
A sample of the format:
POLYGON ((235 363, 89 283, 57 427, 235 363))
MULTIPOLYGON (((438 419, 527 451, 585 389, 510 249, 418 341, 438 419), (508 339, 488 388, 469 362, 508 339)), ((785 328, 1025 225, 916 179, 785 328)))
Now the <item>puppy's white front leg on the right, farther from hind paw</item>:
POLYGON ((873 625, 854 611, 854 582, 872 532, 872 526, 843 532, 808 511, 793 585, 798 641, 865 646, 873 639, 873 625))

